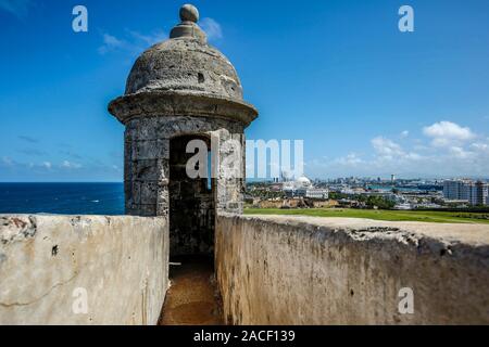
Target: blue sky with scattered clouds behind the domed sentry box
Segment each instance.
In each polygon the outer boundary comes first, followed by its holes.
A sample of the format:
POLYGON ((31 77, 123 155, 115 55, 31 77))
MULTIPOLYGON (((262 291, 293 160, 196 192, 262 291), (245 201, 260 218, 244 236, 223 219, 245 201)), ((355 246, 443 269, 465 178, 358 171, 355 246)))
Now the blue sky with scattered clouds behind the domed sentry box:
MULTIPOLYGON (((487 0, 193 3, 260 111, 247 137, 304 140, 308 176, 489 177, 487 0)), ((0 0, 0 181, 122 181, 106 104, 181 4, 0 0)))

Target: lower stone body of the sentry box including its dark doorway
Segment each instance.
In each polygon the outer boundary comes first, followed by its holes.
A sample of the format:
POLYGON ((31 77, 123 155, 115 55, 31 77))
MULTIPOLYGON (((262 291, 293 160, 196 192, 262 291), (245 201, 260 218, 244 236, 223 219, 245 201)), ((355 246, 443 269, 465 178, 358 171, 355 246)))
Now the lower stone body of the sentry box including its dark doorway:
POLYGON ((238 156, 244 157, 242 133, 240 121, 204 116, 142 117, 128 121, 125 132, 126 214, 168 216, 172 210, 171 254, 212 253, 214 210, 242 211, 244 160, 239 175, 230 179, 225 178, 223 165, 215 165, 218 170, 214 172, 214 189, 204 192, 199 180, 193 180, 196 184, 192 184, 191 180, 183 178, 189 157, 185 153, 186 145, 172 147, 171 143, 175 144, 174 139, 181 137, 214 139, 209 149, 218 163, 225 163, 236 153, 235 147, 227 145, 230 139, 241 144, 238 156), (171 157, 181 159, 178 163, 181 170, 173 170, 174 178, 171 177, 171 157))

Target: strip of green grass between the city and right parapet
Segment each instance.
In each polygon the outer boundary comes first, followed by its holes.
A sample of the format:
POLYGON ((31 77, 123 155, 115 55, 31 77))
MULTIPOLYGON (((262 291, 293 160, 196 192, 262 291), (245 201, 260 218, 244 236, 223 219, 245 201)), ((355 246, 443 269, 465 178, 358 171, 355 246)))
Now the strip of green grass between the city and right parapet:
POLYGON ((391 221, 424 221, 434 223, 485 223, 489 224, 489 214, 417 211, 417 210, 374 210, 374 209, 273 209, 247 208, 247 215, 287 215, 311 217, 367 218, 391 221))

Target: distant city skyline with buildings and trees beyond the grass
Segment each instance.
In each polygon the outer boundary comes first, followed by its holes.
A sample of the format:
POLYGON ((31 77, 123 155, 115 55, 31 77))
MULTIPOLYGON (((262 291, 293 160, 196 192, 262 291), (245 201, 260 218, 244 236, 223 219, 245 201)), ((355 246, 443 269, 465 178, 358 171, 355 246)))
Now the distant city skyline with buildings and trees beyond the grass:
POLYGON ((274 206, 283 203, 280 208, 293 208, 298 203, 308 208, 463 209, 489 206, 488 185, 489 180, 404 179, 396 175, 384 179, 348 177, 314 181, 304 176, 281 175, 272 182, 251 184, 249 202, 256 206, 259 202, 264 206, 265 202, 274 206))

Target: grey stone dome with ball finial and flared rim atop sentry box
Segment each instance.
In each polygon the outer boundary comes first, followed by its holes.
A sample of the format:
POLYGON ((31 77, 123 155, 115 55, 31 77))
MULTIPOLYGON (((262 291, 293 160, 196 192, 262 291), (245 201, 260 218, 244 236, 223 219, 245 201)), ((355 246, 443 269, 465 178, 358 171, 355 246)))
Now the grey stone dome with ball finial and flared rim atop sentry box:
POLYGON ((243 101, 235 67, 208 43, 193 5, 181 7, 180 18, 168 40, 136 60, 124 95, 111 102, 110 113, 123 124, 138 117, 197 115, 248 126, 258 111, 243 101))

